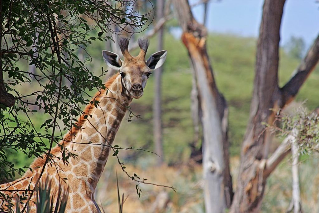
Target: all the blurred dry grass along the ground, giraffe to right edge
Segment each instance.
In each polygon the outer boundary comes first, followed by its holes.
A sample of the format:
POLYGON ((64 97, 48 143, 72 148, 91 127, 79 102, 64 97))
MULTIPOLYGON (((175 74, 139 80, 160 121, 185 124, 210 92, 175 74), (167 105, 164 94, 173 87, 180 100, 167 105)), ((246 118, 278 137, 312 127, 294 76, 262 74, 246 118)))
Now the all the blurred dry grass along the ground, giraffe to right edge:
MULTIPOLYGON (((239 170, 239 157, 231 159, 234 185, 239 170)), ((152 160, 150 160, 152 161, 152 160)), ((319 159, 312 158, 300 163, 301 198, 304 212, 318 212, 319 194, 319 159)), ((105 212, 118 211, 115 162, 104 172, 101 177, 96 201, 102 204, 105 212)), ((286 212, 291 201, 291 167, 290 158, 286 158, 277 170, 271 174, 267 181, 262 212, 286 212)), ((138 199, 135 182, 125 176, 117 166, 120 193, 124 198, 129 196, 124 203, 125 213, 146 212, 204 212, 204 200, 202 195, 202 166, 194 163, 168 167, 134 167, 126 165, 130 174, 136 173, 141 178, 147 178, 149 182, 173 185, 174 191, 153 186, 141 185, 142 195, 138 199)))

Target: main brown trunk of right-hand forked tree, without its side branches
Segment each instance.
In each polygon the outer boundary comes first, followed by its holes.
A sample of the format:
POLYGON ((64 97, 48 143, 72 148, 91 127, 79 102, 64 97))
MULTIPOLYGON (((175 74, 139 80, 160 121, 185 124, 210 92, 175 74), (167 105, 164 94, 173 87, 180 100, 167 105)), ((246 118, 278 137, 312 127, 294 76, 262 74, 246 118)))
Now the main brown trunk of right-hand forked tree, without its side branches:
POLYGON ((265 179, 262 162, 268 156, 264 150, 269 133, 263 123, 272 123, 278 109, 279 30, 285 0, 265 0, 257 44, 256 75, 250 106, 249 124, 241 149, 238 187, 231 212, 259 212, 265 179))

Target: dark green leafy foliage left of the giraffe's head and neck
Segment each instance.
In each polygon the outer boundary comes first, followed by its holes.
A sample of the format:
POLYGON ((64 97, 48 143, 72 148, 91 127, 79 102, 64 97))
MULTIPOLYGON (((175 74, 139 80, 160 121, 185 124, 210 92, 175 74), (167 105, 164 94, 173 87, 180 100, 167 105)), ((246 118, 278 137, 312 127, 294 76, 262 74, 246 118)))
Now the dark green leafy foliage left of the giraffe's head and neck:
MULTIPOLYGON (((24 172, 8 161, 8 153, 22 151, 29 158, 47 153, 49 161, 53 144, 90 101, 88 92, 104 87, 100 76, 107 71, 102 67, 96 76, 88 69, 92 58, 85 48, 96 40, 108 41, 107 33, 114 32, 111 26, 132 33, 141 30, 149 13, 138 13, 134 5, 135 1, 1 1, 0 74, 6 80, 1 78, 0 84, 16 99, 11 108, 0 104, 2 182, 24 172), (21 66, 21 61, 28 66, 21 66), (31 67, 36 69, 30 71, 31 67), (31 114, 39 114, 41 131, 31 114)), ((67 161, 72 154, 61 150, 67 161)))

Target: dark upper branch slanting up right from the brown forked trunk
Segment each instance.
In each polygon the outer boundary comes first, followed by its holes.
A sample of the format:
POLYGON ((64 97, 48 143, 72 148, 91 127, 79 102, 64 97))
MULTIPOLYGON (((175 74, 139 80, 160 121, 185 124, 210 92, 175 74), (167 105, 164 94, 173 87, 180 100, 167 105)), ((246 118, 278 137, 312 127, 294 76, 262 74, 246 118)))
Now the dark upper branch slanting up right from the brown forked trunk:
POLYGON ((308 50, 307 55, 300 63, 296 74, 281 88, 281 107, 289 104, 297 95, 300 87, 306 81, 309 74, 314 70, 319 60, 319 35, 308 50))

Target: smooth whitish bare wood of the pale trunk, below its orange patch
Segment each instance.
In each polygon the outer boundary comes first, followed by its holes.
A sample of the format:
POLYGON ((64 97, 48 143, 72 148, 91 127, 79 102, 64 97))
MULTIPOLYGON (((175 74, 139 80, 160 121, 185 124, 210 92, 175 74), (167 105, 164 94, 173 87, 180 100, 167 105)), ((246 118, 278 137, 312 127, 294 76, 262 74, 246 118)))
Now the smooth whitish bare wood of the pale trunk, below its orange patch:
POLYGON ((223 146, 222 131, 219 121, 216 102, 209 91, 209 83, 206 78, 203 62, 195 61, 194 68, 198 79, 198 89, 202 98, 203 110, 203 178, 204 178, 204 199, 207 213, 224 212, 225 195, 223 183, 223 146))

